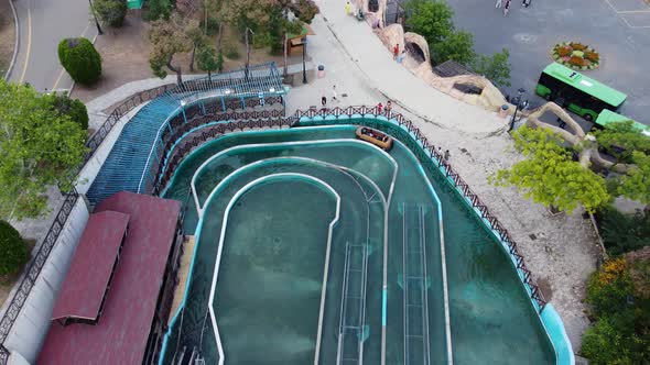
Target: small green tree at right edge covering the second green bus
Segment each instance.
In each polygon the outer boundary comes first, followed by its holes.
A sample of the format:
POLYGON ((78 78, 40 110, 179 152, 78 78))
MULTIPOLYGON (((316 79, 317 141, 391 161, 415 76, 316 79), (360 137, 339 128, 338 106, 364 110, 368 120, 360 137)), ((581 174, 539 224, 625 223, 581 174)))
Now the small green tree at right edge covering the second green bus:
POLYGON ((616 163, 631 163, 635 151, 650 152, 650 136, 639 133, 632 121, 616 122, 593 132, 598 147, 616 158, 616 163))

